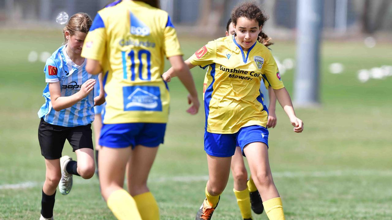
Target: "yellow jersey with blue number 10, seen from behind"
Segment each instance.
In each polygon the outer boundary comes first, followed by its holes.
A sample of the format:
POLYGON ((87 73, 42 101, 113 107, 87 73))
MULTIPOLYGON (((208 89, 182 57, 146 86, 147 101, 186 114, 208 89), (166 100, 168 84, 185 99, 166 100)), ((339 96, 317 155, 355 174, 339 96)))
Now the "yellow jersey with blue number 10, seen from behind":
POLYGON ((176 55, 182 55, 180 43, 165 11, 139 1, 116 1, 98 11, 82 56, 102 65, 103 123, 166 123, 163 58, 176 55))

